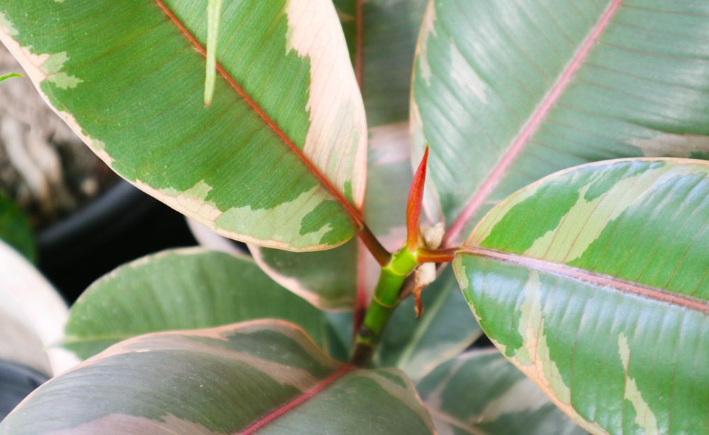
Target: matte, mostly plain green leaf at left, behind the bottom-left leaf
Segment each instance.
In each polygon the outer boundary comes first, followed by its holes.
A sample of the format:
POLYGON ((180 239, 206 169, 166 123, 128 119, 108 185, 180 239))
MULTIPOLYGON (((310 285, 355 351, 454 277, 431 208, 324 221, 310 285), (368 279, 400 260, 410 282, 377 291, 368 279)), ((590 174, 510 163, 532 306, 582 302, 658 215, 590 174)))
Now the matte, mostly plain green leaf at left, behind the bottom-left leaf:
POLYGON ((94 282, 72 306, 62 344, 88 358, 140 334, 265 318, 294 322, 318 346, 346 358, 323 312, 269 280, 252 260, 201 248, 149 255, 94 282))

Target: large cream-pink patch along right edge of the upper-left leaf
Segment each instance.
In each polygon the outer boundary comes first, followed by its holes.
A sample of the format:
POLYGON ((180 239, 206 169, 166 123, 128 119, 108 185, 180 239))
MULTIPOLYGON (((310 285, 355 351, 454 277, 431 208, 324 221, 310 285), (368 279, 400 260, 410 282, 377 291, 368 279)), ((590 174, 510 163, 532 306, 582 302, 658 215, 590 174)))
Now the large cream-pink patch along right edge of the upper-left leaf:
POLYGON ((311 62, 303 153, 340 192, 351 182, 354 205, 364 203, 367 182, 367 120, 345 36, 330 0, 289 0, 286 53, 311 62))

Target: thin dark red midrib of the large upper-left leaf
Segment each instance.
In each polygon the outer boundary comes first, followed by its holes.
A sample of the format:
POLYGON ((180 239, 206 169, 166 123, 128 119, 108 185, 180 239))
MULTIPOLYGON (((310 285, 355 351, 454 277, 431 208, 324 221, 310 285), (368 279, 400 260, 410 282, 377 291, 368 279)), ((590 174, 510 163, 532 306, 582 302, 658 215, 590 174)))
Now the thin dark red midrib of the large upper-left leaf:
MULTIPOLYGON (((194 47, 199 51, 199 53, 206 57, 207 50, 203 47, 203 45, 201 45, 201 43, 199 43, 199 41, 194 37, 194 35, 189 32, 189 30, 184 26, 184 24, 179 21, 177 16, 175 16, 175 14, 170 11, 167 5, 165 5, 162 0, 155 1, 157 3, 157 6, 159 6, 160 9, 164 11, 170 21, 172 21, 172 23, 174 23, 174 25, 179 28, 179 31, 181 31, 185 35, 185 37, 190 41, 190 43, 192 43, 192 45, 194 45, 194 47)), ((284 133, 284 131, 281 130, 279 126, 277 126, 277 124, 266 114, 266 112, 264 112, 256 104, 256 102, 251 99, 251 97, 249 97, 248 94, 246 94, 244 89, 239 86, 239 84, 233 79, 233 77, 231 77, 218 62, 216 64, 216 69, 219 74, 222 75, 222 77, 224 77, 224 79, 235 90, 235 92, 237 92, 237 94, 239 94, 240 97, 242 97, 244 101, 246 101, 246 103, 261 117, 261 119, 263 119, 264 122, 267 123, 269 128, 271 128, 272 131, 276 133, 276 136, 281 139, 281 141, 291 150, 291 152, 298 156, 298 158, 303 162, 303 164, 308 167, 308 170, 310 170, 310 172, 318 179, 318 181, 320 181, 320 184, 323 185, 323 187, 325 187, 325 189, 328 190, 328 192, 332 194, 335 199, 337 199, 337 202, 340 202, 340 204, 342 204, 342 207, 345 209, 345 211, 347 211, 347 214, 350 215, 352 221, 354 221, 354 224, 358 228, 362 228, 362 226, 364 226, 364 221, 362 220, 362 215, 359 213, 359 211, 352 207, 352 204, 350 204, 350 202, 348 202, 347 199, 342 196, 340 191, 338 191, 335 186, 330 183, 330 180, 328 180, 328 178, 325 177, 322 172, 320 172, 318 167, 316 167, 316 165, 314 165, 311 160, 308 159, 308 157, 304 155, 301 150, 298 149, 298 147, 296 147, 295 143, 293 143, 293 141, 291 141, 291 139, 286 136, 286 133, 284 133)))

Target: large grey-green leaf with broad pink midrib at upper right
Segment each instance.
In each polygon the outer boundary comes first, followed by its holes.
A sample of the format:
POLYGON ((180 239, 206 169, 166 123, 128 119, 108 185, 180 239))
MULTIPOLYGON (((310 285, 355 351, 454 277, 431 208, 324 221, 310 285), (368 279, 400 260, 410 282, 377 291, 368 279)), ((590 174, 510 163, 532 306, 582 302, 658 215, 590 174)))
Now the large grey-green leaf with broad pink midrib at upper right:
POLYGON ((530 182, 598 160, 709 158, 709 2, 431 1, 413 163, 457 242, 530 182))

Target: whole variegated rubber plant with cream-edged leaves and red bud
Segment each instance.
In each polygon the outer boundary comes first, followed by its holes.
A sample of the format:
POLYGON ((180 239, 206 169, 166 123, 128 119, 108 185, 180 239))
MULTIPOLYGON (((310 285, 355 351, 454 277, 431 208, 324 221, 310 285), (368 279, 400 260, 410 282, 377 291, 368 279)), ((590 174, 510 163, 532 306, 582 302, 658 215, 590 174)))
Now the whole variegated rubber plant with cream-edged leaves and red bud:
POLYGON ((0 3, 86 144, 253 258, 96 282, 2 433, 709 431, 709 2, 210 3, 0 3))

